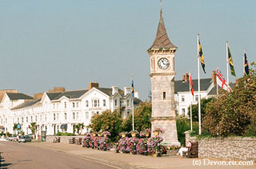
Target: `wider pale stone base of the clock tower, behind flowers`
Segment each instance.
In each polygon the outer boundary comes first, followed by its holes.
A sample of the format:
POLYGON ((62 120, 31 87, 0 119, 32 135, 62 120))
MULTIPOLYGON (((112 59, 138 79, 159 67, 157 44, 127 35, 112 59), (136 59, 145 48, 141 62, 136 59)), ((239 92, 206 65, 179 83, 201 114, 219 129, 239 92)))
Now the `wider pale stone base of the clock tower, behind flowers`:
POLYGON ((151 124, 152 132, 155 128, 162 128, 164 131, 164 133, 160 134, 163 138, 162 145, 167 147, 181 146, 181 143, 178 142, 175 117, 152 117, 151 124))

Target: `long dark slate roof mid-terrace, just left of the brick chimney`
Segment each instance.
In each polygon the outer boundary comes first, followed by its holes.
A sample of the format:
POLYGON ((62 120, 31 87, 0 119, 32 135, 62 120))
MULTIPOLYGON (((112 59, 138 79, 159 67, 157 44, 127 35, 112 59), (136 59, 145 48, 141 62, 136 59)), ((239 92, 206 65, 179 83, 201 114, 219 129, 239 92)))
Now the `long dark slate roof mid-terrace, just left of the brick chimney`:
POLYGON ((74 90, 68 92, 46 92, 47 96, 49 96, 50 100, 58 100, 62 96, 66 96, 69 99, 77 99, 86 93, 88 90, 74 90))

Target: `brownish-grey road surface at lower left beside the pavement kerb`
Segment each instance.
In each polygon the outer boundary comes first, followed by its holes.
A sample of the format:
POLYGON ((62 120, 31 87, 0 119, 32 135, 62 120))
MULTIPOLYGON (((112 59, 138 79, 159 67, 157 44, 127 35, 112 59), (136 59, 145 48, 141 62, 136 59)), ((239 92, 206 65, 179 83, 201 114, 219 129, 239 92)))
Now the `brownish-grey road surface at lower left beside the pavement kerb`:
POLYGON ((52 151, 43 147, 28 146, 26 144, 27 143, 0 142, 0 151, 2 152, 0 169, 117 168, 108 164, 68 155, 63 152, 52 151))

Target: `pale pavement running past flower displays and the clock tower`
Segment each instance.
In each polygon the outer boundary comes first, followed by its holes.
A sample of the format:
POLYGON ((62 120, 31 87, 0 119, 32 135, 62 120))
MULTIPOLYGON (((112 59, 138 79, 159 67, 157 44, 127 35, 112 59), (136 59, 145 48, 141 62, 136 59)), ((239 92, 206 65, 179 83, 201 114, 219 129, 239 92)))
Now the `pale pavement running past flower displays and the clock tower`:
POLYGON ((221 159, 180 159, 177 155, 153 157, 145 155, 130 155, 116 153, 112 151, 99 151, 92 148, 82 147, 81 145, 68 143, 26 143, 28 146, 43 147, 52 151, 67 153, 82 159, 90 159, 98 163, 106 163, 118 168, 256 168, 255 162, 246 165, 224 165, 228 160, 221 159), (253 164, 253 165, 251 165, 253 164))

